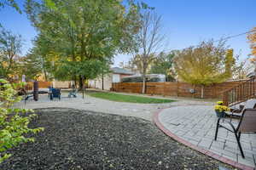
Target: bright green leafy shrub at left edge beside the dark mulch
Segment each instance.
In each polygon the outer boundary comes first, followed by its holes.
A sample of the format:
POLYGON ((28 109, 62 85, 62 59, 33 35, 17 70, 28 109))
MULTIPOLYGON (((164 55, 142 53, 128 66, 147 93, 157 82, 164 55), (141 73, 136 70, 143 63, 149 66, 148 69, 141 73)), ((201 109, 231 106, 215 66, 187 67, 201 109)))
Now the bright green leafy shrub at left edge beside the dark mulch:
POLYGON ((35 114, 26 114, 32 110, 11 107, 15 102, 19 102, 21 97, 17 96, 15 88, 24 84, 10 84, 6 80, 0 79, 0 163, 11 156, 8 149, 18 144, 33 142, 33 138, 23 136, 26 133, 38 133, 44 130, 43 127, 29 128, 28 123, 35 114))

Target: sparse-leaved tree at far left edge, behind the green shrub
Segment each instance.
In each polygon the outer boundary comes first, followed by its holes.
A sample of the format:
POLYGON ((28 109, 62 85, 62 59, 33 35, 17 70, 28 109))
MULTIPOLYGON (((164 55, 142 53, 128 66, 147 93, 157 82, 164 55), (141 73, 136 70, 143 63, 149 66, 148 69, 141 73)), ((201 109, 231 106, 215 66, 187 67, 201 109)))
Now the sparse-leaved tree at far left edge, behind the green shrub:
POLYGON ((11 31, 0 31, 0 75, 10 82, 19 75, 22 38, 11 31))

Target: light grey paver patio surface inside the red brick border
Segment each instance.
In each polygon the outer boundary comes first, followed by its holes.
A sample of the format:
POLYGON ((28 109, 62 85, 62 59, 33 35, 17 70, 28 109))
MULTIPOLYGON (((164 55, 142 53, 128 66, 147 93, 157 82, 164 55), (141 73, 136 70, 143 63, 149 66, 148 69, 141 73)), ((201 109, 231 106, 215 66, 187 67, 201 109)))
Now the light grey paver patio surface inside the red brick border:
POLYGON ((171 107, 161 111, 158 119, 171 133, 199 148, 210 150, 231 161, 255 167, 256 133, 241 134, 241 146, 246 156, 242 159, 234 133, 219 128, 218 139, 214 140, 217 116, 213 111, 213 105, 171 107))

